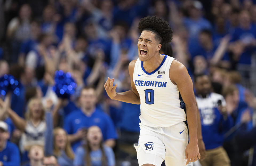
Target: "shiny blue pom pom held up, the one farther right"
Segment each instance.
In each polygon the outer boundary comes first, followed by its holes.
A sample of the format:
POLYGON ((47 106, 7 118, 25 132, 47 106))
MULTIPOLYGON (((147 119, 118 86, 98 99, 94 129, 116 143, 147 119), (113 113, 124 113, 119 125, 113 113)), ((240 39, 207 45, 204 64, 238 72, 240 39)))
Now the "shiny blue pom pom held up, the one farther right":
POLYGON ((70 95, 75 92, 77 84, 69 72, 64 73, 62 70, 55 71, 55 85, 53 91, 59 98, 69 99, 70 95))

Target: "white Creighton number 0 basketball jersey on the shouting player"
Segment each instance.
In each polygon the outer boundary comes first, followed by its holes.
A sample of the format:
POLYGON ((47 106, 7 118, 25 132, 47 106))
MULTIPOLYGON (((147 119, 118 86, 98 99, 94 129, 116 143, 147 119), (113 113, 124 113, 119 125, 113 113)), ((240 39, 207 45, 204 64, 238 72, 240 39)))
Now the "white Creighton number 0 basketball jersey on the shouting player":
POLYGON ((173 60, 165 55, 160 66, 151 73, 144 70, 139 58, 135 63, 133 82, 141 99, 139 119, 142 125, 169 127, 186 120, 185 104, 169 77, 173 60))

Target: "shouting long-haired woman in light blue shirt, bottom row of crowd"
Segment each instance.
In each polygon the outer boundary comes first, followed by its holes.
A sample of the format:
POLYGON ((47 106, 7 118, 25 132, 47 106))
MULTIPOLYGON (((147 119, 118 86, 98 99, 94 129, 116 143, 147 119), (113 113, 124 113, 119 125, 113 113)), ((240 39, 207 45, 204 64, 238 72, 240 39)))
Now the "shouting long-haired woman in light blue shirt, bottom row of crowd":
POLYGON ((86 143, 75 152, 74 166, 114 166, 112 148, 102 144, 102 132, 98 126, 87 129, 86 143))

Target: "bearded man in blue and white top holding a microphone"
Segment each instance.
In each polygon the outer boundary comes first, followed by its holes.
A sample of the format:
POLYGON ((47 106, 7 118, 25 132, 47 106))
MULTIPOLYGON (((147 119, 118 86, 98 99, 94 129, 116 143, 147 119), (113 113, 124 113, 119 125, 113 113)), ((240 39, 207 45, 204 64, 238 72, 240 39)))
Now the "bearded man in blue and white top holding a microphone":
POLYGON ((224 134, 233 126, 233 119, 226 111, 225 99, 222 95, 211 92, 208 75, 195 75, 194 84, 207 153, 206 158, 199 161, 202 166, 230 166, 230 159, 222 147, 224 134))

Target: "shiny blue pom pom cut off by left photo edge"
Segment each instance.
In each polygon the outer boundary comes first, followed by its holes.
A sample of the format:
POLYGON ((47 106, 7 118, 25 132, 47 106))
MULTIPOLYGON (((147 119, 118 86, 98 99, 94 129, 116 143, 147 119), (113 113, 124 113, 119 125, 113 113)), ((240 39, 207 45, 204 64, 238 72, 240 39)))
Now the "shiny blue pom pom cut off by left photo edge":
POLYGON ((12 75, 5 74, 0 78, 0 95, 5 96, 8 92, 14 95, 20 95, 20 84, 12 75))

